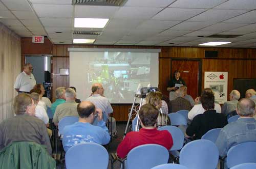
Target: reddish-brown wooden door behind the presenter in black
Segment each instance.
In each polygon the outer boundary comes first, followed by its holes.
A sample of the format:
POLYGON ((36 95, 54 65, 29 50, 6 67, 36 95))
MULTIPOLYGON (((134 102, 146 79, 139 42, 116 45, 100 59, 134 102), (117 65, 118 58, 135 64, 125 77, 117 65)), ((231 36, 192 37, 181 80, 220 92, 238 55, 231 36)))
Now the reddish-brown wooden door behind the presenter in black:
POLYGON ((199 60, 172 60, 170 75, 173 77, 174 71, 179 70, 180 77, 185 81, 187 86, 187 94, 194 99, 200 95, 200 61, 199 60))

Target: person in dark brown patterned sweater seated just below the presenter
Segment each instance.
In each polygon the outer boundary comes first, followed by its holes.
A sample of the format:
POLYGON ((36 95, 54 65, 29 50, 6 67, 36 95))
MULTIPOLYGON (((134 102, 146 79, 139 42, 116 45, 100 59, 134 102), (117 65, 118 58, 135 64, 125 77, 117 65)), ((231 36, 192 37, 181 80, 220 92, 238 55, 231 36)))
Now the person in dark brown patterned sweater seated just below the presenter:
POLYGON ((172 101, 169 101, 168 103, 169 113, 177 112, 179 110, 190 110, 192 106, 189 103, 189 101, 183 98, 184 91, 178 89, 175 91, 175 93, 177 98, 172 101))

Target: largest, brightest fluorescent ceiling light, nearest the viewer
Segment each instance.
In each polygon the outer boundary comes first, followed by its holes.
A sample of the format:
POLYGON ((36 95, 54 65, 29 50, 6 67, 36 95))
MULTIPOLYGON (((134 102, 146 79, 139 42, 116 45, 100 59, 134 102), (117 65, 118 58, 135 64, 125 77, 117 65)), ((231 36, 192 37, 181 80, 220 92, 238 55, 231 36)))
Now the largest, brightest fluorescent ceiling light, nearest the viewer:
POLYGON ((103 28, 109 19, 99 18, 75 18, 75 27, 103 28))

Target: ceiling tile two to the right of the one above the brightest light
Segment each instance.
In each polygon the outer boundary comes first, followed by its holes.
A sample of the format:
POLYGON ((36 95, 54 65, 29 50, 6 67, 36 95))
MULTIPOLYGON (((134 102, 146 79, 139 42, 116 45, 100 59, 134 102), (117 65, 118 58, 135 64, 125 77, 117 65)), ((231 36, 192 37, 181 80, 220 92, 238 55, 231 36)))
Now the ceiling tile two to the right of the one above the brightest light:
POLYGON ((193 17, 205 9, 182 9, 182 8, 165 8, 152 19, 155 20, 186 20, 193 17))

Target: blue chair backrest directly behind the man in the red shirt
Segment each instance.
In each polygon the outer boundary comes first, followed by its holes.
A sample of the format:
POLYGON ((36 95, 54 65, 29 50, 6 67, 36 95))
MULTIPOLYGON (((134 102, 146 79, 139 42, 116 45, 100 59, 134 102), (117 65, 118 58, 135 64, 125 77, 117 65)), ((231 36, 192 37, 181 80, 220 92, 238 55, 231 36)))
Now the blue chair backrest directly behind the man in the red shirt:
POLYGON ((168 162, 169 152, 160 145, 146 144, 135 147, 127 155, 127 169, 148 169, 168 162))

